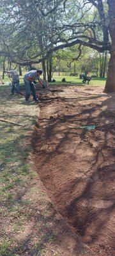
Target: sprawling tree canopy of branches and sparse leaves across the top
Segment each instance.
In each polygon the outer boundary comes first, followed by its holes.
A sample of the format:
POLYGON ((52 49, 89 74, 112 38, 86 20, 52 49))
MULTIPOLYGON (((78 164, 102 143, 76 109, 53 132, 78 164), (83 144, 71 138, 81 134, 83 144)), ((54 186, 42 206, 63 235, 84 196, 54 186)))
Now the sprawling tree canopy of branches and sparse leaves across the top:
POLYGON ((114 0, 1 0, 0 55, 20 65, 40 63, 81 45, 112 52, 114 0))

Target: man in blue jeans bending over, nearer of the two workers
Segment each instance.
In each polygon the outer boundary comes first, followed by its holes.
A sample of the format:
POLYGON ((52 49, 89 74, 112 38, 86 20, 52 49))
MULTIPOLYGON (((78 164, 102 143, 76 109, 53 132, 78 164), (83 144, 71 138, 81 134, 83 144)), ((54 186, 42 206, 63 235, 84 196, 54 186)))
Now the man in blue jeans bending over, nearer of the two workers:
POLYGON ((42 81, 40 80, 41 75, 42 75, 42 70, 40 70, 40 69, 31 70, 25 74, 24 83, 26 86, 26 102, 29 102, 29 97, 30 97, 31 91, 33 93, 33 100, 35 100, 35 101, 38 100, 36 97, 36 89, 34 86, 34 81, 38 80, 40 85, 43 85, 42 81))

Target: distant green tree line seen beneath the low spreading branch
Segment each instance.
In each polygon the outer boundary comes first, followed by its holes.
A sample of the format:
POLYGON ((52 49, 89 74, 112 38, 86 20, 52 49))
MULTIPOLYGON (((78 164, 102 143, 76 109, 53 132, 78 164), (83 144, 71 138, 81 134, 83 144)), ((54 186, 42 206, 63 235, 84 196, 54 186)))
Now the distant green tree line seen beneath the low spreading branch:
MULTIPOLYGON (((100 78, 107 76, 107 66, 109 63, 109 54, 107 54, 107 52, 99 54, 91 49, 89 51, 88 48, 84 47, 79 59, 73 60, 77 52, 76 48, 77 47, 71 47, 70 49, 59 50, 52 53, 50 60, 44 61, 45 76, 49 82, 52 81, 54 72, 57 72, 58 76, 60 76, 60 72, 63 72, 64 76, 70 76, 71 74, 73 76, 79 76, 81 73, 90 73, 90 75, 100 78)), ((26 72, 35 68, 42 68, 42 65, 29 64, 22 67, 21 65, 11 63, 8 58, 0 58, 0 69, 3 71, 3 79, 4 70, 11 70, 13 68, 17 68, 19 76, 22 76, 22 70, 26 72)))

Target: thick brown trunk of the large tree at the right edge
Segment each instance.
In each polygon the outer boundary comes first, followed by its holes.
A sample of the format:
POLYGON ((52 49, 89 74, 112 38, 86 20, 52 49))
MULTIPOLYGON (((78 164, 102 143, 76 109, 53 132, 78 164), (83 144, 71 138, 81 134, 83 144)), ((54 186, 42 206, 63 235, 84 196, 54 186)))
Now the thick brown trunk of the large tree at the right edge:
POLYGON ((109 60, 107 81, 105 84, 104 92, 110 93, 115 92, 115 1, 107 0, 109 5, 109 32, 111 35, 112 46, 111 46, 111 58, 109 60))

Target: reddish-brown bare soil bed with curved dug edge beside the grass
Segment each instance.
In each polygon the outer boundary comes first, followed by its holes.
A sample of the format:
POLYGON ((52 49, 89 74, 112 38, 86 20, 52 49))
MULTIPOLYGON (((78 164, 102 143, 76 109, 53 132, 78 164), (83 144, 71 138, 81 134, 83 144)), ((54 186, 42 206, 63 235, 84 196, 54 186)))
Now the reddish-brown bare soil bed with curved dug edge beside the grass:
POLYGON ((43 97, 33 136, 36 171, 57 211, 102 256, 114 256, 114 102, 99 87, 65 86, 43 97))

